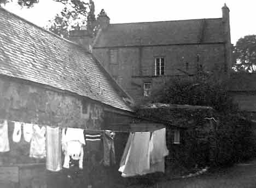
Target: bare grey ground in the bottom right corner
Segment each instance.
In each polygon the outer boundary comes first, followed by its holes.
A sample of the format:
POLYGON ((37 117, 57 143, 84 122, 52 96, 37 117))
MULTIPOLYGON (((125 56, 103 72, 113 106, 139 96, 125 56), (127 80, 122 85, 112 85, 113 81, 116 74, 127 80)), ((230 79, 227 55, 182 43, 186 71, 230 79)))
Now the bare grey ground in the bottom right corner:
POLYGON ((136 188, 254 188, 256 187, 256 160, 215 169, 206 174, 185 179, 168 180, 157 184, 131 186, 136 188))

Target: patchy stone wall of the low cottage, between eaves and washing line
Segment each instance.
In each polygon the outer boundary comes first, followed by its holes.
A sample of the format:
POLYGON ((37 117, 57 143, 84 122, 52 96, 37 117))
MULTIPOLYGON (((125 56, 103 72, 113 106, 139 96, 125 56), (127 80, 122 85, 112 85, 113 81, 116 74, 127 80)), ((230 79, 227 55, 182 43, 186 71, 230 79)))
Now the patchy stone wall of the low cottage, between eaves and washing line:
POLYGON ((88 98, 0 79, 0 118, 60 127, 100 128, 103 108, 88 98), (82 100, 88 110, 82 113, 82 100))

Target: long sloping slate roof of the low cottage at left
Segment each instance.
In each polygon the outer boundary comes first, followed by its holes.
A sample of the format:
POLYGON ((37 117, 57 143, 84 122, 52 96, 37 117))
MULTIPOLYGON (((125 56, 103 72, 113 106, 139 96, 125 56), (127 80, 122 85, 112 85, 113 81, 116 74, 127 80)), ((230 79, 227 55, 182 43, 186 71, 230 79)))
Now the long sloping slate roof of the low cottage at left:
POLYGON ((129 98, 78 44, 0 8, 0 74, 77 93, 132 111, 129 98))

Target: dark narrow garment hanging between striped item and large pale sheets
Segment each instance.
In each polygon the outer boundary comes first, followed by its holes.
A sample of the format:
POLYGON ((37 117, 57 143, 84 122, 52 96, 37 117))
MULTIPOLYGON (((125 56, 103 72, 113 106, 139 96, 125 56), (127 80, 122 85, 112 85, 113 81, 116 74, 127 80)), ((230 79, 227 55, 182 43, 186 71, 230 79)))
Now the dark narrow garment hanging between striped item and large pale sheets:
POLYGON ((114 137, 115 133, 113 131, 106 130, 103 133, 104 166, 110 166, 110 164, 115 164, 114 137))

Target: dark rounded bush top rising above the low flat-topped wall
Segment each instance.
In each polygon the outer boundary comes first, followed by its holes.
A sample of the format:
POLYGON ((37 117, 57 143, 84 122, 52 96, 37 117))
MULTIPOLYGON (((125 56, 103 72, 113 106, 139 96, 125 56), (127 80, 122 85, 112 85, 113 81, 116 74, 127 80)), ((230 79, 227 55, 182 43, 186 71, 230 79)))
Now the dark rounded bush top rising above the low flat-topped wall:
POLYGON ((204 105, 213 107, 218 112, 231 113, 237 110, 237 106, 232 102, 226 85, 215 78, 205 76, 196 80, 173 79, 153 91, 153 95, 144 103, 204 105))

